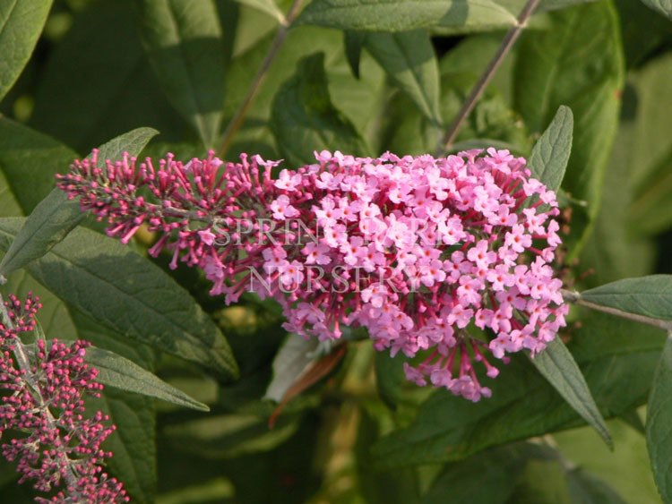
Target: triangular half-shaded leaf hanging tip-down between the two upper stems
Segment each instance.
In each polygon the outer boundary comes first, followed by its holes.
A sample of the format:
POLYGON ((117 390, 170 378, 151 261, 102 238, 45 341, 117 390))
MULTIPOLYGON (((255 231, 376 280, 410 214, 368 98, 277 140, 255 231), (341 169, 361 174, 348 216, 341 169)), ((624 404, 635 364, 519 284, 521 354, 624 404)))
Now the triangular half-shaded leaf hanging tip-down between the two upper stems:
POLYGON ((438 64, 426 30, 370 33, 366 50, 427 119, 442 123, 438 64))

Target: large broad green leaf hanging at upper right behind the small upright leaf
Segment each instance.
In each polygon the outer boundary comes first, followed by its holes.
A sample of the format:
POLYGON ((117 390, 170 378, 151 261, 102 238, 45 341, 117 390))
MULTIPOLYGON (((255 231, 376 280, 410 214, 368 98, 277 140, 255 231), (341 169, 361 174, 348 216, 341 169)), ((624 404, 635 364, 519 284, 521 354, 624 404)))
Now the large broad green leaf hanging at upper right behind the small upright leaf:
POLYGON ((580 118, 563 189, 587 207, 573 211, 570 259, 599 210, 624 81, 620 31, 612 4, 597 2, 549 13, 548 30, 521 35, 514 103, 530 132, 541 132, 561 105, 580 118))

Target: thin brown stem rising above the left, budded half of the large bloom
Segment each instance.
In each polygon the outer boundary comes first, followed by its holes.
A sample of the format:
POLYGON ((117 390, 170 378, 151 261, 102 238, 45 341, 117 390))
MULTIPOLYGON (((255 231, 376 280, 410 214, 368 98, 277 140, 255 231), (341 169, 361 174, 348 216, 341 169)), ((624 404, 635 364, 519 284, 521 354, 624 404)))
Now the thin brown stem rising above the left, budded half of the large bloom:
POLYGON ((234 135, 240 129, 240 126, 243 125, 247 110, 252 105, 256 94, 262 87, 263 81, 266 78, 266 73, 268 73, 269 69, 271 68, 271 64, 273 63, 275 56, 278 56, 280 47, 282 47, 285 38, 287 38, 287 33, 289 32, 289 29, 291 28, 294 20, 297 18, 300 7, 301 0, 294 0, 294 2, 291 4, 291 7, 289 7, 289 12, 287 13, 284 21, 280 23, 278 33, 276 33, 275 38, 273 38, 271 48, 269 48, 266 57, 263 58, 262 66, 259 67, 256 75, 254 75, 252 84, 250 84, 250 88, 247 90, 246 97, 243 98, 243 101, 240 103, 240 106, 238 106, 236 113, 228 123, 227 129, 224 131, 224 136, 221 139, 220 147, 217 149, 218 158, 224 158, 229 146, 231 145, 231 141, 233 141, 234 135))

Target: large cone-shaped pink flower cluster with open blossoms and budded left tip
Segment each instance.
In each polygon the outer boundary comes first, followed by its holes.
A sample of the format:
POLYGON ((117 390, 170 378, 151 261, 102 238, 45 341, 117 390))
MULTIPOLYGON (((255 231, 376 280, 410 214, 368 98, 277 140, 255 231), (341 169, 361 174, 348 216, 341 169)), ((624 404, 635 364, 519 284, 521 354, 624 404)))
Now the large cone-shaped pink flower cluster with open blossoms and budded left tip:
POLYGON ((58 186, 124 243, 158 232, 150 253, 201 268, 227 303, 271 296, 286 329, 323 340, 364 327, 378 350, 424 356, 409 380, 474 401, 491 393, 474 363, 494 378, 488 356, 534 355, 564 326, 556 195, 523 158, 315 158, 274 174, 258 156, 99 166, 94 152, 58 186))

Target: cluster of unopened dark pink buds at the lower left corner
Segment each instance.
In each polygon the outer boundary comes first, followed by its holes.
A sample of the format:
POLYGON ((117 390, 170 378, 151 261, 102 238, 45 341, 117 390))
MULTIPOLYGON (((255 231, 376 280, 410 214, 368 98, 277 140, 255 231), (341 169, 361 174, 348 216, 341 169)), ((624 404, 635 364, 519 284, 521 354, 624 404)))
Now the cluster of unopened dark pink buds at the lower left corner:
POLYGON ((0 404, 0 435, 16 431, 5 442, 4 457, 17 462, 19 483, 33 481, 47 492, 42 503, 117 503, 128 497, 122 483, 108 477, 100 466, 111 457, 100 443, 114 431, 109 418, 97 412, 84 417, 84 396, 99 397, 98 371, 84 363, 86 341, 71 346, 38 339, 22 343, 24 333, 36 328, 41 304, 28 295, 24 302, 10 296, 0 322, 0 388, 9 392, 0 404))

